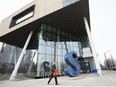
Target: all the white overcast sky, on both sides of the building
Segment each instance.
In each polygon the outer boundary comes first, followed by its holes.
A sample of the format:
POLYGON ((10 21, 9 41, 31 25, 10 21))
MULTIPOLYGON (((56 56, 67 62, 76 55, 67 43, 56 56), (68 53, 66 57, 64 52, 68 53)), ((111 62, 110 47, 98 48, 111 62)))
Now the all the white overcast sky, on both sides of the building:
MULTIPOLYGON (((33 0, 1 0, 0 21, 33 0)), ((91 30, 98 58, 116 59, 116 0, 89 0, 91 30)))

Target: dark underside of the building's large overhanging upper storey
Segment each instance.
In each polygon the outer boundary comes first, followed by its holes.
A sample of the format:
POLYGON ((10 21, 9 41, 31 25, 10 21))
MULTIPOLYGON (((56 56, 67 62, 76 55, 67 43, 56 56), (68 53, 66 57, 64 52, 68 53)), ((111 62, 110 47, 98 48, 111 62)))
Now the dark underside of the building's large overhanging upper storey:
POLYGON ((90 26, 88 0, 80 0, 79 2, 35 20, 32 23, 0 37, 0 41, 22 48, 29 32, 31 30, 36 32, 36 30, 40 28, 41 23, 72 33, 78 37, 87 36, 83 17, 87 18, 90 26))

